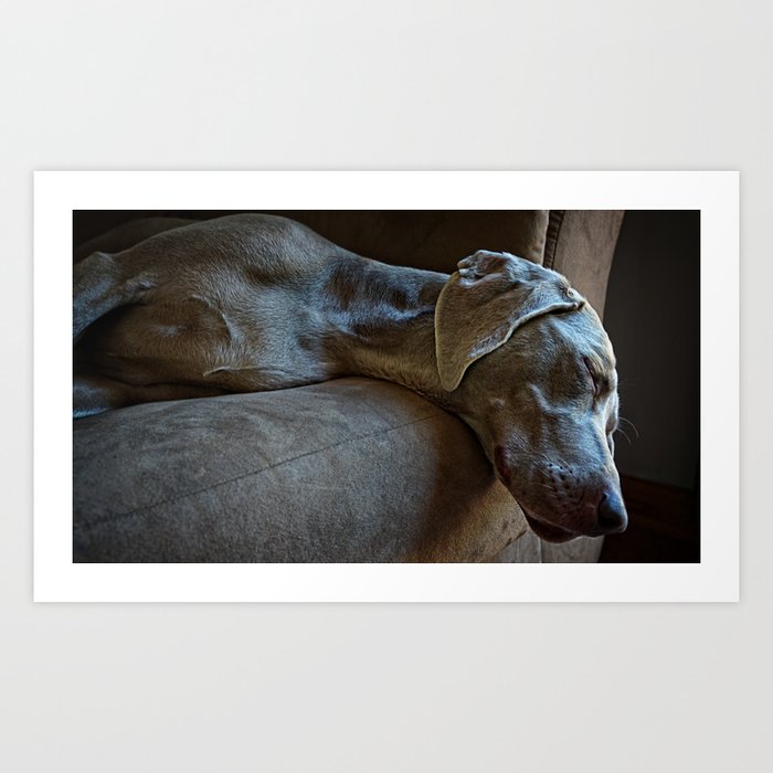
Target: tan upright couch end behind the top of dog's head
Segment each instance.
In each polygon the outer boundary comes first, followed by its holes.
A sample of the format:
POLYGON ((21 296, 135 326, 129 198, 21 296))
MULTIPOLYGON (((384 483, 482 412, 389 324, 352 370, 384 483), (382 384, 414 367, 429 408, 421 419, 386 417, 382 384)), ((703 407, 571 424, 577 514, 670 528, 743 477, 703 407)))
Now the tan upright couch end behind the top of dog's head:
POLYGON ((606 283, 624 210, 551 210, 544 265, 563 274, 604 317, 606 283))

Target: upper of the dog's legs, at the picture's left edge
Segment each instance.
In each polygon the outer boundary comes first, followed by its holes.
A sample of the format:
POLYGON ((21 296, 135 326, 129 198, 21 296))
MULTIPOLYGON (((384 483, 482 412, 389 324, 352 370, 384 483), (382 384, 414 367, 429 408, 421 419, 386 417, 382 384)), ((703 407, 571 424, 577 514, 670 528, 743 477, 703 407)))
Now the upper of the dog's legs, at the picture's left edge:
POLYGON ((73 266, 73 340, 108 311, 140 303, 155 283, 149 275, 127 276, 115 257, 95 252, 73 266))

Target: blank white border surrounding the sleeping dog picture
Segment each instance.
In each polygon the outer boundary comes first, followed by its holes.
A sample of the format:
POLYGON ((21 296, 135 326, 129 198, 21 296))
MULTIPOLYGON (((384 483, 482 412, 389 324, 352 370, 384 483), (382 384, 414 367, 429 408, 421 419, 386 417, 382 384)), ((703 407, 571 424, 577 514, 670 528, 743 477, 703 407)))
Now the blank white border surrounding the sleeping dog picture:
POLYGON ((35 601, 739 599, 738 172, 45 171, 34 207, 35 601), (551 208, 701 211, 699 564, 72 563, 73 210, 551 208))

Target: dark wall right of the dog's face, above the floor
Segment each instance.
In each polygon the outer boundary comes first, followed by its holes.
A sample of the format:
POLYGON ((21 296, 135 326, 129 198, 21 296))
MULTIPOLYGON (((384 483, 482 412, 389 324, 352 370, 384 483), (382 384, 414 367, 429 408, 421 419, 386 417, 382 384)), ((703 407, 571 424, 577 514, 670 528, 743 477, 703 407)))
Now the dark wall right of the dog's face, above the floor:
POLYGON ((700 458, 700 213, 629 211, 604 324, 617 356, 621 473, 691 488, 700 458))

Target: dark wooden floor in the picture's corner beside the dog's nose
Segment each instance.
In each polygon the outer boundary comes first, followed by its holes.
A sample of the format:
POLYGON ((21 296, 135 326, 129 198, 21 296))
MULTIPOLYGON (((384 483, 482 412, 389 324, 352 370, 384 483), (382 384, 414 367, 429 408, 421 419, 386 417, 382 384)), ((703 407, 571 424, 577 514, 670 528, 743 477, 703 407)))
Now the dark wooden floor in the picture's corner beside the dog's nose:
POLYGON ((623 476, 628 528, 606 537, 601 563, 700 561, 699 498, 689 489, 623 476))

